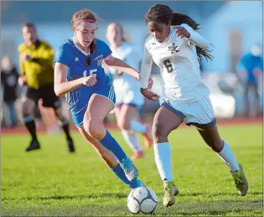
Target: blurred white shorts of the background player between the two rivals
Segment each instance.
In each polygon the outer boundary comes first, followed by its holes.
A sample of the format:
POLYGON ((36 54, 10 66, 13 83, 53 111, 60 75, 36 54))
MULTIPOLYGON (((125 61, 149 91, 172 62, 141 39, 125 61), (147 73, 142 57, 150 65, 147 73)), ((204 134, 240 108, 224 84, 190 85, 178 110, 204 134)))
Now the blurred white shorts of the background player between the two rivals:
POLYGON ((131 87, 123 85, 122 87, 115 85, 116 107, 120 105, 132 105, 135 107, 142 107, 144 105, 144 96, 140 93, 140 87, 131 87))

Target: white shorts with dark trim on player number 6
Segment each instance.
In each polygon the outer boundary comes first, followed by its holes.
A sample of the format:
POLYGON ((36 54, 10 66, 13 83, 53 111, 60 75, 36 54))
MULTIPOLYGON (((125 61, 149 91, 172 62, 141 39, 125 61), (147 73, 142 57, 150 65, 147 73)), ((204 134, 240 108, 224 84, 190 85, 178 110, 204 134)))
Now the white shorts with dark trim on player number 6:
POLYGON ((208 95, 193 103, 176 103, 173 100, 161 99, 160 105, 182 118, 182 121, 188 126, 210 128, 217 123, 208 95))

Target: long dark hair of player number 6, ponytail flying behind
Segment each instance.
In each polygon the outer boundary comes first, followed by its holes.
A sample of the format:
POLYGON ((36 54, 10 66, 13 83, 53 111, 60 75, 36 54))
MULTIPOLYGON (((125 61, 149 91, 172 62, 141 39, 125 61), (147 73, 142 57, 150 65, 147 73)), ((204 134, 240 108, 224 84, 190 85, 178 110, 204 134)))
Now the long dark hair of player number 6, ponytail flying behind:
MULTIPOLYGON (((173 26, 188 24, 195 31, 198 30, 198 27, 200 26, 200 23, 197 23, 191 19, 191 17, 182 13, 175 13, 169 6, 163 4, 156 4, 149 8, 145 15, 145 23, 147 24, 150 21, 163 22, 164 24, 168 24, 171 21, 173 26)), ((210 54, 210 50, 203 49, 198 46, 196 46, 196 54, 199 58, 199 61, 202 61, 203 57, 210 60, 214 58, 210 54)))

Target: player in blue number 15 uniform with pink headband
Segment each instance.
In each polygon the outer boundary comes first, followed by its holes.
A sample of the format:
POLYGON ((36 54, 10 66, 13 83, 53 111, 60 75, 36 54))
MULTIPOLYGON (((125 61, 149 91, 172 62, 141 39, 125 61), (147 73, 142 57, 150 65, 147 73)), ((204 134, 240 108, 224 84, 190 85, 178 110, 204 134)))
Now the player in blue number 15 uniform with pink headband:
POLYGON ((131 188, 144 186, 137 179, 138 169, 103 126, 103 119, 115 107, 115 89, 101 65, 104 61, 138 80, 140 74, 112 57, 108 45, 95 38, 98 27, 90 10, 74 13, 71 23, 73 38, 64 40, 55 54, 54 91, 57 96, 66 94, 75 126, 117 177, 131 188))

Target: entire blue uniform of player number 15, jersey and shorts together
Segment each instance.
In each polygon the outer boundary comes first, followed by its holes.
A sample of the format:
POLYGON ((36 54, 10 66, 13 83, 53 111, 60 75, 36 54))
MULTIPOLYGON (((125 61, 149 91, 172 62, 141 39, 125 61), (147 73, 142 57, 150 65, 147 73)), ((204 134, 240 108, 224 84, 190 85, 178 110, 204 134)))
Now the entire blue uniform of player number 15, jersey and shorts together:
MULTIPOLYGON (((112 87, 110 78, 102 68, 103 59, 112 54, 112 51, 102 40, 94 38, 94 42, 96 43, 96 50, 93 54, 81 50, 73 38, 65 40, 56 50, 54 61, 68 66, 67 81, 96 74, 97 82, 94 86, 87 87, 86 85, 82 85, 66 95, 72 115, 86 110, 92 94, 105 96, 112 103, 115 103, 115 90, 112 87), (88 57, 91 57, 89 67, 87 67, 88 57)), ((78 117, 78 123, 75 121, 77 126, 82 122, 82 118, 78 117)))

